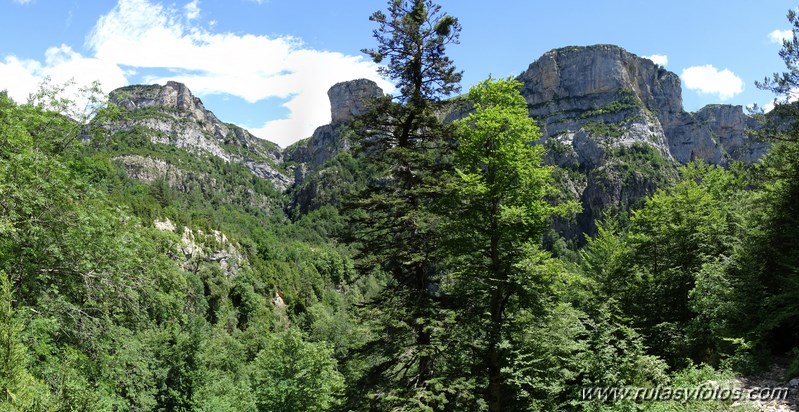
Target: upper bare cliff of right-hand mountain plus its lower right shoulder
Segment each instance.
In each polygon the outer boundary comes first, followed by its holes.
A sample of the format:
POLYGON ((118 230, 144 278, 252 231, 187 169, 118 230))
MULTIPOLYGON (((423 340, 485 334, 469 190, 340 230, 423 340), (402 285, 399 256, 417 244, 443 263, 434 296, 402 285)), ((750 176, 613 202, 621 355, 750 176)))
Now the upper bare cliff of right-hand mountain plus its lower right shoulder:
MULTIPOLYGON (((618 46, 552 50, 519 80, 545 140, 567 135, 561 140, 571 141, 583 130, 600 146, 646 143, 680 163, 754 161, 766 149, 746 138, 754 124, 740 106, 685 112, 676 74, 618 46)), ((596 156, 586 160, 599 163, 596 156)))

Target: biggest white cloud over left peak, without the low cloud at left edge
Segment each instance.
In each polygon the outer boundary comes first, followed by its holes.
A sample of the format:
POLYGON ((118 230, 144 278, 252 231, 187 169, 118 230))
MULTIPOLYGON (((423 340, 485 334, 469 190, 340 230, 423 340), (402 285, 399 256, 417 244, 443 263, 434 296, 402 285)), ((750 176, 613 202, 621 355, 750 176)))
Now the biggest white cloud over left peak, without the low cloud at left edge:
MULTIPOLYGON (((191 2, 199 14, 197 2, 191 2)), ((229 93, 248 102, 288 98, 287 119, 268 122, 252 131, 281 146, 310 136, 330 121, 327 90, 359 77, 392 86, 376 66, 359 56, 307 49, 292 37, 212 33, 148 0, 120 0, 101 17, 87 39, 95 56, 134 68, 168 68, 177 74, 148 82, 176 80, 198 95, 229 93)))

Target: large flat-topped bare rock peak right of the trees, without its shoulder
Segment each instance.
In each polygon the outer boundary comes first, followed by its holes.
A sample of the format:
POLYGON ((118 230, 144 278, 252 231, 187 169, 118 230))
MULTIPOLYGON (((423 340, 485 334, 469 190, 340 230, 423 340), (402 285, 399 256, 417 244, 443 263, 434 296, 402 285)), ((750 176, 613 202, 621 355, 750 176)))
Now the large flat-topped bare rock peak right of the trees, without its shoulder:
POLYGON ((567 157, 583 169, 634 144, 672 158, 659 119, 681 110, 680 79, 652 61, 617 46, 566 47, 541 56, 519 80, 543 140, 570 147, 567 157))

